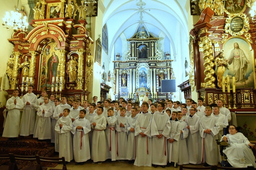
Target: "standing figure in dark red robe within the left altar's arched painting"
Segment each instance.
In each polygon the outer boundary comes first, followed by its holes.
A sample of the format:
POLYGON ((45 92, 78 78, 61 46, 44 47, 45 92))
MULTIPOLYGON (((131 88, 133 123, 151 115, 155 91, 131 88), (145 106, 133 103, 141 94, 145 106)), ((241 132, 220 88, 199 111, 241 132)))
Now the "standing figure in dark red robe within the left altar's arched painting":
POLYGON ((55 55, 55 52, 52 52, 52 56, 47 62, 47 83, 52 84, 53 77, 57 77, 57 67, 59 64, 59 58, 55 55))

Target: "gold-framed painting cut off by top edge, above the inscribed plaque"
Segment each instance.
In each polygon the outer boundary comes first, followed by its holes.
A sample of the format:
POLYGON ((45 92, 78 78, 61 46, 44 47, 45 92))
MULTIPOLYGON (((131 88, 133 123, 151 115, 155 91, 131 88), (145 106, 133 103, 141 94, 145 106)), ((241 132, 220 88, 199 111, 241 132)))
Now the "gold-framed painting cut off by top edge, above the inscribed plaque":
POLYGON ((246 8, 246 0, 226 0, 226 12, 231 14, 243 13, 246 8))

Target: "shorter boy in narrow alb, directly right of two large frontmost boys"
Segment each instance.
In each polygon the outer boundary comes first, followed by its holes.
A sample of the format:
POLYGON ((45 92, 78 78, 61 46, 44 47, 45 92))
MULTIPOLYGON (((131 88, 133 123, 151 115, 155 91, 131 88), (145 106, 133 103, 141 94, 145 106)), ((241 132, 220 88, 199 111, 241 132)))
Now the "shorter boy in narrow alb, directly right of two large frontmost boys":
POLYGON ((168 139, 168 164, 167 167, 170 165, 174 165, 175 168, 177 168, 176 163, 178 162, 179 158, 179 140, 181 135, 181 124, 177 119, 178 113, 176 111, 172 112, 171 115, 171 130, 170 130, 170 136, 168 139))

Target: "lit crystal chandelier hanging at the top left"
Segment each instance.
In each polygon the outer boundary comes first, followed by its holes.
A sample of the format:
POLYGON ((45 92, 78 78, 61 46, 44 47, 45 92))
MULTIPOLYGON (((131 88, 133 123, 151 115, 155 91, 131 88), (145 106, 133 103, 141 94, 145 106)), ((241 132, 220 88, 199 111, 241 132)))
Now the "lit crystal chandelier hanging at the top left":
MULTIPOLYGON (((19 0, 18 0, 19 4, 19 0)), ((18 6, 17 4, 17 6, 18 6)), ((18 7, 16 12, 11 11, 11 16, 9 12, 6 12, 3 18, 3 27, 7 30, 11 30, 13 28, 14 32, 20 30, 21 32, 28 30, 28 22, 26 22, 27 16, 23 16, 21 13, 18 12, 18 7)))

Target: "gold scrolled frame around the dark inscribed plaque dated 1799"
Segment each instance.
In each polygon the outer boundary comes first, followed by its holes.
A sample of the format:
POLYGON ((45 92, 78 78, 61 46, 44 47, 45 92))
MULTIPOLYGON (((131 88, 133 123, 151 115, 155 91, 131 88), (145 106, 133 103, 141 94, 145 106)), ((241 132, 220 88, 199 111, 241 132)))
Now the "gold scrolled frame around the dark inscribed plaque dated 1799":
MULTIPOLYGON (((228 33, 232 36, 241 36, 250 30, 249 19, 246 17, 245 14, 230 14, 230 15, 228 15, 228 18, 226 18, 225 22, 226 22, 226 25, 225 25, 224 31, 225 31, 225 33, 228 33), (243 19, 244 26, 241 29, 241 31, 239 31, 239 32, 233 32, 230 29, 230 22, 234 17, 241 17, 243 19)), ((239 25, 238 27, 242 27, 242 26, 240 26, 240 23, 238 25, 239 25)))

